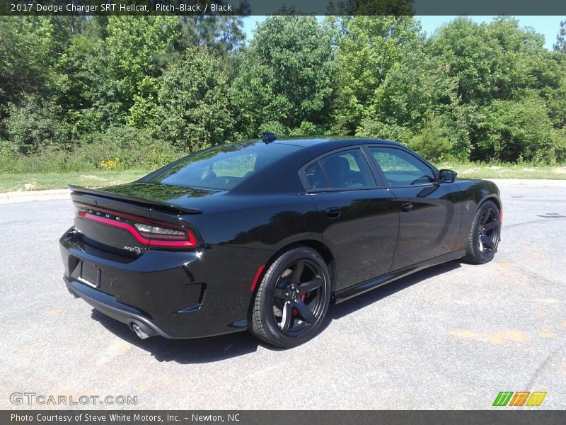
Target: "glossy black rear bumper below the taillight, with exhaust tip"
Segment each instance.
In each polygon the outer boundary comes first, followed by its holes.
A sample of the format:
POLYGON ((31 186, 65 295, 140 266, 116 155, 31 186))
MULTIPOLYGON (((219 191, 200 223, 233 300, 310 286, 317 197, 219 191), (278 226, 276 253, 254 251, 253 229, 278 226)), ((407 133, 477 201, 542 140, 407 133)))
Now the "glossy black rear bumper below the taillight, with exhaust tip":
POLYGON ((115 254, 89 245, 72 227, 60 239, 60 249, 64 281, 73 295, 132 330, 175 339, 247 329, 250 284, 272 255, 217 245, 115 254), (86 263, 98 268, 96 287, 84 283, 86 263))

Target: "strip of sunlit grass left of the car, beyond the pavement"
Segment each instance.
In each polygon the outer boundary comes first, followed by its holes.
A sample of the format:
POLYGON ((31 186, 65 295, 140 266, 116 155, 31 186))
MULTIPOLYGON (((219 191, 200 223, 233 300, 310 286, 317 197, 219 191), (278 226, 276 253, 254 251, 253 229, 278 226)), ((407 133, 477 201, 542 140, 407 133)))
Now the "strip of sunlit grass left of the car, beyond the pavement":
POLYGON ((149 171, 67 171, 60 173, 2 173, 0 174, 0 193, 13 191, 41 191, 43 189, 62 189, 69 184, 91 188, 128 183, 148 174, 149 171))

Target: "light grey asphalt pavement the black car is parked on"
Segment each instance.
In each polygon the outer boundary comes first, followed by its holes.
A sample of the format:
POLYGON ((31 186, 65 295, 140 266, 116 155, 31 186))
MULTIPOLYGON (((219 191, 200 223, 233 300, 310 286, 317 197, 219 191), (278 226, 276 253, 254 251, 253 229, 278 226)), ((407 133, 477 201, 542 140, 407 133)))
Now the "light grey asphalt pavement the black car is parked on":
POLYGON ((138 339, 64 286, 70 200, 0 205, 0 409, 489 409, 500 391, 565 409, 566 188, 502 187, 502 200, 494 261, 331 306, 321 334, 287 351, 247 332, 138 339), (60 395, 77 404, 49 403, 60 395))

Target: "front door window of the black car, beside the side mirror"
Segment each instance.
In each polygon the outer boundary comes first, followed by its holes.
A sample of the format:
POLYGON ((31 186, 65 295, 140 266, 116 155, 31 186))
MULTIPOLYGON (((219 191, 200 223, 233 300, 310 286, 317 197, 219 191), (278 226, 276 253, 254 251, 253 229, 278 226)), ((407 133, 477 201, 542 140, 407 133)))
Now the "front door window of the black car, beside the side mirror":
POLYGON ((434 181, 432 170, 408 152, 391 147, 370 147, 369 152, 389 186, 412 186, 434 181))

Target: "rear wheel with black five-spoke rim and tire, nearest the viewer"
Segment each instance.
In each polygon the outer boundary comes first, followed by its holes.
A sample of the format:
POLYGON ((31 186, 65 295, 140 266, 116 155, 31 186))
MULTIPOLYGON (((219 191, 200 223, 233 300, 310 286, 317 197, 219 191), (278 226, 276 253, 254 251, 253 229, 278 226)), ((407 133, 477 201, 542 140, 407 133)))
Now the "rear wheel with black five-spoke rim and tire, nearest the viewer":
POLYGON ((279 256, 258 287, 250 331, 274 346, 292 348, 313 338, 330 303, 328 266, 305 246, 279 256))

